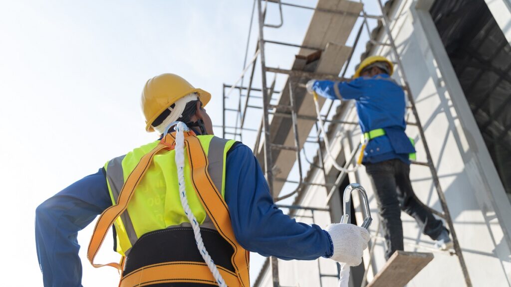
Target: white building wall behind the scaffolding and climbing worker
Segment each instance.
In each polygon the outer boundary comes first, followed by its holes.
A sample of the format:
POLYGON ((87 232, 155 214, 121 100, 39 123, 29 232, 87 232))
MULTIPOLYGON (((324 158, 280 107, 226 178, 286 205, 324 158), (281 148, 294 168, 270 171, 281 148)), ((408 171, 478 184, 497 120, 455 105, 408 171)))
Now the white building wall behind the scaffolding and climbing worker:
MULTIPOLYGON (((503 0, 505 1, 505 0, 503 0)), ((502 2, 494 0, 495 2, 502 2)), ((428 9, 432 1, 411 0, 394 1, 390 11, 392 34, 398 46, 404 70, 409 81, 413 97, 422 125, 425 130, 429 149, 444 190, 447 203, 454 221, 463 256, 473 286, 511 286, 511 204, 505 196, 504 189, 472 117, 464 95, 457 82, 452 66, 429 17, 428 9), (417 6, 415 6, 417 4, 417 6)), ((506 6, 507 7, 507 6, 506 6)), ((502 11, 503 14, 509 10, 502 11)), ((498 11, 492 10, 496 15, 498 11)), ((499 15, 496 18, 504 18, 499 15)), ((507 35, 507 33, 506 33, 507 35)), ((385 40, 385 37, 380 40, 385 40)), ((373 54, 392 55, 389 51, 376 50, 373 54)), ((399 80, 400 73, 396 74, 399 80)), ((354 109, 340 115, 346 120, 356 120, 354 109)), ((410 115, 409 121, 413 122, 410 115)), ((338 126, 334 135, 345 133, 346 127, 338 126)), ((407 134, 416 140, 417 160, 426 161, 423 142, 415 127, 409 126, 407 134)), ((336 140, 340 143, 333 147, 334 154, 340 158, 349 156, 349 144, 357 145, 360 138, 358 129, 351 131, 350 138, 336 140), (351 140, 351 142, 349 142, 351 140), (344 147, 344 149, 342 149, 344 147)), ((330 177, 335 178, 337 172, 330 168, 330 177)), ((317 171, 315 180, 322 180, 317 171)), ((412 184, 417 196, 429 206, 441 210, 436 190, 430 179, 429 169, 424 166, 412 165, 412 184)), ((351 182, 359 182, 366 187, 370 200, 373 224, 370 232, 375 235, 376 245, 374 258, 364 256, 364 264, 369 268, 368 279, 385 264, 381 233, 377 233, 379 220, 377 206, 370 182, 363 167, 350 174, 351 182)), ((301 204, 323 207, 326 192, 322 187, 311 187, 301 204)), ((338 201, 339 198, 334 198, 338 201)), ((359 204, 354 197, 354 204, 359 204)), ((339 205, 336 205, 339 208, 339 205)), ((334 210, 339 214, 338 210, 334 210)), ((336 216, 337 217, 337 216, 336 216)), ((333 221, 338 221, 338 219, 333 221)), ((303 220, 305 218, 298 218, 303 220)), ((410 286, 463 286, 464 279, 457 256, 447 252, 433 250, 434 242, 421 233, 413 218, 402 214, 405 250, 433 252, 432 262, 412 279, 410 286)), ((358 212, 357 221, 362 221, 358 212)), ((329 216, 316 216, 316 224, 326 226, 329 216)), ((329 260, 319 261, 324 270, 335 272, 335 264, 329 260)), ((281 285, 285 286, 318 286, 317 261, 280 261, 281 285), (303 274, 307 274, 304 276, 303 274)), ((325 272, 326 273, 326 272, 325 272)), ((268 276, 266 276, 268 277, 268 276)), ((264 280, 263 280, 264 281, 264 280)), ((269 286, 268 284, 263 284, 269 286)), ((323 278, 322 286, 336 286, 333 279, 323 278), (330 280, 330 281, 329 281, 330 280)))

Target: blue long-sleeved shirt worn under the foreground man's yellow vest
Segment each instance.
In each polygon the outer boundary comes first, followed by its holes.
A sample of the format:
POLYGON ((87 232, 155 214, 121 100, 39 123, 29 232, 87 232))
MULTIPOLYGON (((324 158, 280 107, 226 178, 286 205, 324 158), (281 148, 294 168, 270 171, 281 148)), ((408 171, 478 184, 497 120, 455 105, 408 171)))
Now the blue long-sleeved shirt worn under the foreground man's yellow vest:
MULTIPOLYGON (((238 242, 245 249, 281 259, 330 257, 330 235, 297 223, 278 209, 252 151, 237 143, 226 159, 225 201, 238 242)), ((81 286, 78 231, 111 205, 100 169, 44 201, 36 209, 35 238, 45 287, 81 286)))

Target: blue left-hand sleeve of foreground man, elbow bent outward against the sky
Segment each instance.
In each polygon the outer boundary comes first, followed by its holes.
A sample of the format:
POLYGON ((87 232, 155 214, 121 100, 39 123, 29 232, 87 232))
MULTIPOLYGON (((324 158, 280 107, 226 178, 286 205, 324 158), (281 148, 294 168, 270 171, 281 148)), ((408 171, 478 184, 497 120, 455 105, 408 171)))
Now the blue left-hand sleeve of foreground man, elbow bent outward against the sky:
POLYGON ((44 286, 82 285, 78 231, 111 204, 106 179, 100 169, 37 207, 35 240, 44 286))

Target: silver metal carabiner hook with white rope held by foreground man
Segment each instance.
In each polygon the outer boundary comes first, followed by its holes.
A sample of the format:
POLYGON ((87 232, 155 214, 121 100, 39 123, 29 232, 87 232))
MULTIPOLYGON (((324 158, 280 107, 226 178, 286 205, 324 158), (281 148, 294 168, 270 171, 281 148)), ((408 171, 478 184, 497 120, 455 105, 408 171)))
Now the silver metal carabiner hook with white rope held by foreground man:
MULTIPOLYGON (((361 227, 368 229, 369 225, 373 221, 371 218, 371 211, 369 209, 369 201, 367 200, 367 194, 365 192, 364 187, 358 183, 352 183, 344 189, 344 194, 342 196, 342 201, 344 203, 343 208, 343 216, 341 217, 341 222, 343 224, 351 223, 351 194, 354 190, 358 190, 358 192, 362 195, 363 201, 363 209, 365 213, 364 222, 362 222, 361 227)), ((341 263, 341 270, 339 273, 339 287, 348 287, 348 281, 350 280, 350 266, 345 263, 341 263)))

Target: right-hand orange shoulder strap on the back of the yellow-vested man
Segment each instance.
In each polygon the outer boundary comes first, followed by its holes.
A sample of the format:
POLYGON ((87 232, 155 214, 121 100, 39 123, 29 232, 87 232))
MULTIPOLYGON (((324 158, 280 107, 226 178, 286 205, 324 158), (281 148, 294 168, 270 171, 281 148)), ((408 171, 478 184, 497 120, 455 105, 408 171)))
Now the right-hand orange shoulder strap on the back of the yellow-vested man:
MULTIPOLYGON (((174 137, 172 134, 170 136, 174 137)), ((185 137, 184 143, 188 147, 186 151, 188 152, 188 160, 192 168, 192 185, 195 192, 208 216, 212 219, 217 231, 234 249, 231 262, 239 279, 239 284, 234 286, 249 287, 248 251, 241 247, 236 240, 227 204, 207 173, 208 161, 204 150, 197 137, 185 137)), ((231 284, 227 285, 233 286, 231 284)))

